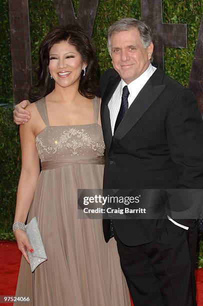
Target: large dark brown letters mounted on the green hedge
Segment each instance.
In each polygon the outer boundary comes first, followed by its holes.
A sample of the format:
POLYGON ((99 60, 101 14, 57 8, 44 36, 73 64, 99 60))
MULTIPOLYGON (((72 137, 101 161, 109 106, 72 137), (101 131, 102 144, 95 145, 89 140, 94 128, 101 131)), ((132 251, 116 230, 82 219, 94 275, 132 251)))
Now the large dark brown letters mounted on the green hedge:
MULTIPOLYGON (((89 36, 92 35, 98 0, 79 0, 77 15, 71 0, 53 0, 60 24, 79 23, 89 36)), ((164 23, 161 0, 141 0, 141 19, 152 29, 154 62, 163 67, 163 48, 187 47, 186 24, 164 23)), ((10 41, 12 58, 12 83, 14 101, 23 99, 31 85, 31 52, 29 39, 28 0, 9 0, 10 41)), ((195 56, 191 67, 189 87, 203 107, 203 18, 199 27, 195 56)), ((203 109, 203 108, 202 108, 203 109)))

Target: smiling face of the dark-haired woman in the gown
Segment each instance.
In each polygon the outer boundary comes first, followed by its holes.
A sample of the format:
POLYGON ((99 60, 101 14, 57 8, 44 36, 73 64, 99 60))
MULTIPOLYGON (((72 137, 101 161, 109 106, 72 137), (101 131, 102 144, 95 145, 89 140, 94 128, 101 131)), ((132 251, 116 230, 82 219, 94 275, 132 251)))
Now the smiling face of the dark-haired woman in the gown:
POLYGON ((79 84, 83 63, 80 53, 75 46, 67 41, 53 44, 49 52, 49 71, 55 84, 67 87, 75 82, 79 84))

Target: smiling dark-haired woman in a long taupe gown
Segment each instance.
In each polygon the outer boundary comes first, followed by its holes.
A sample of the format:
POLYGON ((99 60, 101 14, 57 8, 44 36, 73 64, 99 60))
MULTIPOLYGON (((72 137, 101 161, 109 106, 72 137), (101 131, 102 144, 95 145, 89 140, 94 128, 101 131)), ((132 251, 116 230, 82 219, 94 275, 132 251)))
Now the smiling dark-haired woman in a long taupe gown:
POLYGON ((87 98, 78 89, 80 79, 85 77, 83 64, 87 64, 88 71, 88 59, 78 51, 78 45, 72 44, 75 33, 88 39, 79 27, 69 26, 52 30, 42 42, 41 54, 47 38, 49 53, 54 53, 48 62, 48 81, 54 87, 28 105, 31 119, 20 126, 22 170, 14 222, 25 222, 28 210, 27 223, 36 216, 47 261, 31 272, 24 253, 25 246, 29 249, 30 245, 25 232, 17 229, 18 247, 26 260, 22 256, 15 295, 31 297, 30 304, 35 306, 128 306, 129 293, 115 240, 104 242, 101 219, 77 217, 77 189, 102 188, 104 142, 99 124, 100 101, 97 97, 87 98), (60 32, 69 38, 59 39, 60 32), (74 65, 77 53, 79 66, 74 65), (75 97, 69 105, 67 99, 69 108, 61 102, 66 96, 70 100, 75 97), (78 105, 81 110, 77 111, 78 105), (61 117, 60 107, 64 108, 61 117), (30 130, 33 137, 28 134, 30 130), (34 165, 37 154, 41 162, 40 174, 38 170, 29 171, 32 180, 23 177, 24 168, 31 169, 29 154, 35 154, 31 156, 34 165))

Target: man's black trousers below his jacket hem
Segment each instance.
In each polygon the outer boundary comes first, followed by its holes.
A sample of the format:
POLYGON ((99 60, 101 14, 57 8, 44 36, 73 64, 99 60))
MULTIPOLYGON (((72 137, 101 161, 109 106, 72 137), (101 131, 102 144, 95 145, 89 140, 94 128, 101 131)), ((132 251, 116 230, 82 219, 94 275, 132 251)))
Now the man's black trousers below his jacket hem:
POLYGON ((194 257, 187 230, 168 220, 153 241, 127 246, 114 238, 134 306, 195 306, 194 257))

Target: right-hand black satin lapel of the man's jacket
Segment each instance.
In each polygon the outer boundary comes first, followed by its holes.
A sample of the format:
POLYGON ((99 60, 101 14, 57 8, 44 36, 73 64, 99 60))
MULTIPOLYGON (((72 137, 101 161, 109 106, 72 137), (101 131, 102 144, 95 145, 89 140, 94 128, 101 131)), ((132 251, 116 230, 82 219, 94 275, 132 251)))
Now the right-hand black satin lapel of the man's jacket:
POLYGON ((164 84, 153 86, 149 79, 139 94, 136 96, 125 116, 117 127, 113 137, 110 149, 112 149, 120 139, 132 128, 132 126, 140 119, 145 111, 156 100, 159 94, 165 88, 164 84))

